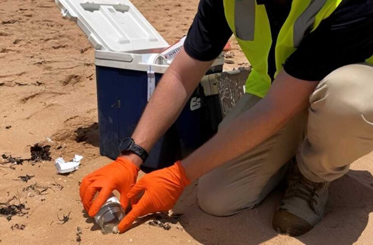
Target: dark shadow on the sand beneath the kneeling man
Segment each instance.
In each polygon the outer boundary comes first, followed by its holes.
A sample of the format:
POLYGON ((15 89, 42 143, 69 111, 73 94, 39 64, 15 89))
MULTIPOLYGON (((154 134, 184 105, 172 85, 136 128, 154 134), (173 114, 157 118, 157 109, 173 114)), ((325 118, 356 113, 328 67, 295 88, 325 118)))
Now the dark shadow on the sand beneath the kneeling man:
POLYGON ((273 191, 262 204, 230 217, 214 217, 197 204, 197 184, 189 186, 175 207, 183 210, 180 223, 195 240, 206 245, 256 245, 272 239, 274 244, 354 244, 373 211, 373 176, 368 171, 350 170, 329 189, 326 214, 307 234, 289 238, 278 235, 271 222, 283 191, 273 191), (298 241, 297 241, 298 240, 298 241))

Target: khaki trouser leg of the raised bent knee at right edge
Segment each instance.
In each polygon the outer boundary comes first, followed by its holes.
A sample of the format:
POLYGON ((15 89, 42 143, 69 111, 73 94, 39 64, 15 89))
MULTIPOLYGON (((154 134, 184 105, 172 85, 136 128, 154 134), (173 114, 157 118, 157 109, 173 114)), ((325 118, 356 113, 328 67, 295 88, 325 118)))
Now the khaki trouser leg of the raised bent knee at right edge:
POLYGON ((369 65, 341 67, 326 76, 310 96, 307 140, 298 161, 308 179, 332 181, 372 151, 372 77, 369 65))

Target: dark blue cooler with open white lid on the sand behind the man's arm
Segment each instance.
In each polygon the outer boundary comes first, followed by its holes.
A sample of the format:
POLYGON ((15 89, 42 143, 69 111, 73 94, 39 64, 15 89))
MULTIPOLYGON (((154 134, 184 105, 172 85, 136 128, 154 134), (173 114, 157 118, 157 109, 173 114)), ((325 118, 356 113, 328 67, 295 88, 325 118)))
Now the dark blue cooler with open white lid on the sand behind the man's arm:
MULTIPOLYGON (((62 15, 76 22, 95 48, 100 154, 115 159, 120 140, 132 135, 184 39, 169 46, 129 0, 55 1, 62 15)), ((221 55, 208 74, 221 72, 223 63, 221 55)), ((144 166, 171 165, 216 133, 222 113, 219 95, 204 93, 209 86, 214 85, 196 88, 144 166)))

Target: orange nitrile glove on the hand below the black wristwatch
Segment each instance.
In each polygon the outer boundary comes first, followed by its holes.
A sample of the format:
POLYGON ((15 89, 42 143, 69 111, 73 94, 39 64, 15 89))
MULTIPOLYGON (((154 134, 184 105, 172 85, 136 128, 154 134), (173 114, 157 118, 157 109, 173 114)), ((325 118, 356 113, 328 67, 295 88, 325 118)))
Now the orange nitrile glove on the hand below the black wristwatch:
POLYGON ((127 192, 135 185, 139 168, 131 161, 118 157, 117 160, 86 175, 79 188, 80 198, 88 215, 93 217, 101 209, 114 190, 120 193, 120 204, 128 206, 127 192), (96 192, 100 192, 93 201, 96 192))

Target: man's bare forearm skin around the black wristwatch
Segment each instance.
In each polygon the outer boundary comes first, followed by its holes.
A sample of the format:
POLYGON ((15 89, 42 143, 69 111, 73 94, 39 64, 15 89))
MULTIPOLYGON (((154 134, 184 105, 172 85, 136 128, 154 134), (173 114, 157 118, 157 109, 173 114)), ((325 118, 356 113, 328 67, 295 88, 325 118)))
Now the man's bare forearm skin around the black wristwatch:
MULTIPOLYGON (((169 69, 157 85, 132 138, 148 152, 154 143, 170 128, 186 105, 213 61, 198 61, 184 49, 175 57, 169 69)), ((124 156, 136 166, 142 160, 135 154, 124 156)))

